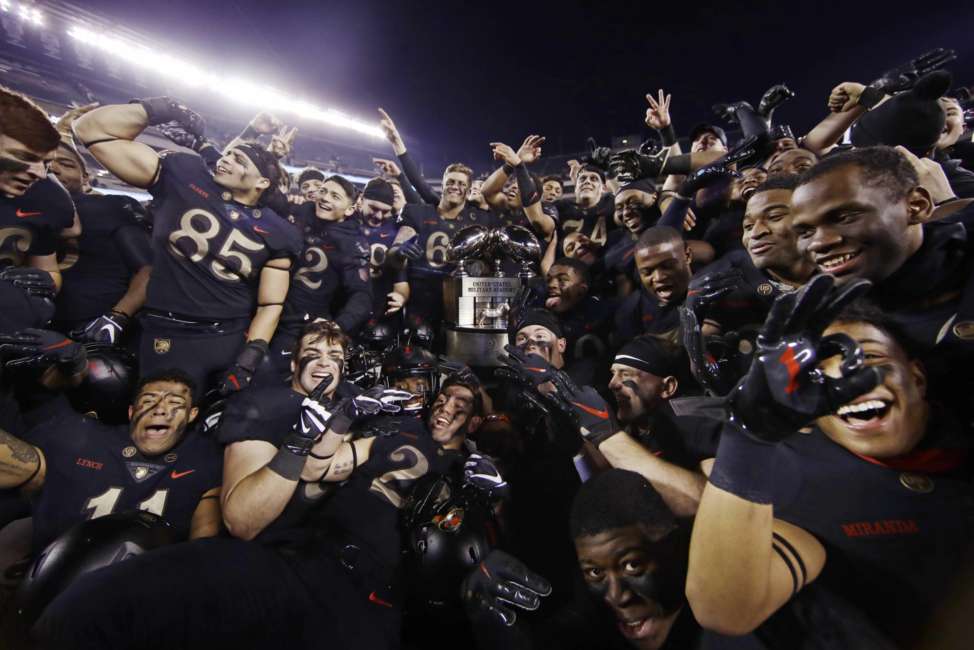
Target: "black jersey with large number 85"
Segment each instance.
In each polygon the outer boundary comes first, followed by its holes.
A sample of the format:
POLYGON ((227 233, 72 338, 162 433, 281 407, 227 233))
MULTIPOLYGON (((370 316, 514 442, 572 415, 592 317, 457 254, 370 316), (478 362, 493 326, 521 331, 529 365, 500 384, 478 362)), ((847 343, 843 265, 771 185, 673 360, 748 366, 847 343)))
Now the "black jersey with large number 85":
POLYGON ((248 318, 261 268, 294 258, 301 239, 269 208, 233 201, 196 155, 163 155, 153 204, 146 307, 200 320, 248 318))

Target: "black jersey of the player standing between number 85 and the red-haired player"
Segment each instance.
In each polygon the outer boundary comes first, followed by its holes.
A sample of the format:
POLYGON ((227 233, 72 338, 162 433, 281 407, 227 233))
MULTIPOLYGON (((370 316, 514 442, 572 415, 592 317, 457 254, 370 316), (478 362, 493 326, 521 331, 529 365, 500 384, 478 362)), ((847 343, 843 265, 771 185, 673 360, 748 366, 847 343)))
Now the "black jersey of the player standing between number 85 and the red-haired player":
POLYGON ((107 313, 128 290, 132 276, 152 264, 152 247, 142 207, 128 196, 72 197, 81 237, 59 266, 62 285, 55 319, 76 321, 107 313))

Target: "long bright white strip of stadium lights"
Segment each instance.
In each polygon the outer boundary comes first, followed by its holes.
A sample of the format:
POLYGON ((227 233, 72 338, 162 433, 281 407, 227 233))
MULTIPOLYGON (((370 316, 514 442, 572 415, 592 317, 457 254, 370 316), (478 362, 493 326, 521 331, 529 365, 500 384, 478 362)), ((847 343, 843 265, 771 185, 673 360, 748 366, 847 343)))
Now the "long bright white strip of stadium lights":
MULTIPOLYGON (((0 0, 0 3, 5 1, 0 0)), ((134 66, 153 70, 187 86, 207 88, 239 104, 273 113, 297 115, 307 120, 324 122, 373 138, 385 137, 382 130, 375 124, 356 119, 335 108, 321 108, 307 100, 291 97, 276 88, 255 84, 245 79, 222 77, 207 72, 188 61, 150 49, 125 38, 106 32, 95 32, 80 25, 72 26, 68 29, 67 34, 85 45, 123 59, 134 66)))

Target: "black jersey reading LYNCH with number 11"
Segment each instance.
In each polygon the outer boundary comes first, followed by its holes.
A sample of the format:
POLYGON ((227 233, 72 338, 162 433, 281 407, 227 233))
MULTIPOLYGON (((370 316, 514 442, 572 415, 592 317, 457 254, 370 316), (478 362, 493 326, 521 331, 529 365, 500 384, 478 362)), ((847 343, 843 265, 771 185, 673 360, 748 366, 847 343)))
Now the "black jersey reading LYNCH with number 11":
POLYGON ((109 426, 72 414, 36 432, 47 459, 44 486, 33 504, 33 548, 39 551, 78 522, 113 512, 148 510, 189 535, 203 494, 222 482, 223 454, 189 430, 173 449, 143 456, 128 425, 109 426))

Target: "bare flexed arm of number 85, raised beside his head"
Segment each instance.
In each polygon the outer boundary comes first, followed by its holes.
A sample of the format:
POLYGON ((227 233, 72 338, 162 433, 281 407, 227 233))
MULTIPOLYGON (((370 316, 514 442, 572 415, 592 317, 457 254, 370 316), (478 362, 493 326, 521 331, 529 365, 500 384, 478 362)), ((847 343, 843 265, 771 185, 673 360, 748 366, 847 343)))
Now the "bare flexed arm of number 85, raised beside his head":
POLYGON ((135 187, 150 187, 159 173, 159 155, 135 142, 149 120, 140 104, 112 104, 74 121, 75 138, 105 169, 135 187))

